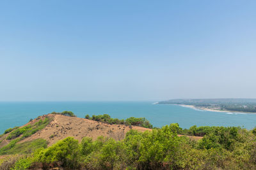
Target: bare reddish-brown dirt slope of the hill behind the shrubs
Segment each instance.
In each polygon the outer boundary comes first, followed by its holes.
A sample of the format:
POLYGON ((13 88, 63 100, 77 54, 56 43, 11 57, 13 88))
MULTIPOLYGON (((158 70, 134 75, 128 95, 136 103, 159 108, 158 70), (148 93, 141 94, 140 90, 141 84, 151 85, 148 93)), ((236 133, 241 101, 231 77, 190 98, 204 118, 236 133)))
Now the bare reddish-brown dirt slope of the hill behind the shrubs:
POLYGON ((124 139, 126 132, 135 129, 140 132, 152 131, 138 126, 127 125, 110 125, 102 122, 96 122, 85 118, 66 117, 63 115, 47 115, 52 118, 52 121, 42 131, 38 131, 32 136, 23 139, 24 141, 31 141, 38 138, 43 138, 49 141, 49 145, 56 143, 60 139, 69 136, 81 141, 85 136, 97 139, 99 136, 106 136, 116 140, 124 139))

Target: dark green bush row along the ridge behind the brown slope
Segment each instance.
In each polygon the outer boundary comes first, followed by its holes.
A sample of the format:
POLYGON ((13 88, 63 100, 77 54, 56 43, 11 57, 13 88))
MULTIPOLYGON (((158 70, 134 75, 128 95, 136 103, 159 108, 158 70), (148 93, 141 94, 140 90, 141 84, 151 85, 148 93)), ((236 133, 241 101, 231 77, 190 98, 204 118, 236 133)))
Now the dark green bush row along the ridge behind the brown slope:
POLYGON ((107 124, 125 124, 125 125, 136 125, 140 127, 153 128, 153 125, 146 118, 134 118, 130 117, 126 120, 119 120, 118 118, 111 118, 108 114, 104 115, 86 115, 86 119, 95 120, 97 122, 104 122, 107 124))

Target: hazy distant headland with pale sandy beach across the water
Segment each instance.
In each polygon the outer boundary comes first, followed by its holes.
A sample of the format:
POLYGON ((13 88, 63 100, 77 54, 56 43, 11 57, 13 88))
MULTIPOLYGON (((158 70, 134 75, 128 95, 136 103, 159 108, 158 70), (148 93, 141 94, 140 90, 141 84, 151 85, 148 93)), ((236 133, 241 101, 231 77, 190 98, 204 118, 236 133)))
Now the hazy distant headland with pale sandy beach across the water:
POLYGON ((157 104, 178 104, 206 111, 256 113, 256 99, 171 99, 157 104))

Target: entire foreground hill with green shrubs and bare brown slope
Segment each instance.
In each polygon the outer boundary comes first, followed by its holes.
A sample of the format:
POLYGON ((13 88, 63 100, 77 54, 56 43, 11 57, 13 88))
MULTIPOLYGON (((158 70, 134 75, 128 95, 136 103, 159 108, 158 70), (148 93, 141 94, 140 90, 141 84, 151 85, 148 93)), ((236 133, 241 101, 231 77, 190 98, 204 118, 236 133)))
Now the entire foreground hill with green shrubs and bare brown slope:
POLYGON ((0 169, 256 169, 256 129, 151 128, 145 118, 54 112, 0 136, 0 169))

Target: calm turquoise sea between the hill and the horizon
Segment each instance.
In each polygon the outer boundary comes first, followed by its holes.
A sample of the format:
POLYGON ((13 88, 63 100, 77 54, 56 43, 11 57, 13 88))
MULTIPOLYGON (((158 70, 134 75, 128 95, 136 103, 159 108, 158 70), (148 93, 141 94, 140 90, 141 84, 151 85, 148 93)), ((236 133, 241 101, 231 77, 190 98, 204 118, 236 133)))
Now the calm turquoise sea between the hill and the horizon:
POLYGON ((193 110, 170 104, 152 102, 12 102, 0 103, 0 134, 10 127, 26 124, 30 118, 52 111, 73 111, 77 117, 107 113, 113 118, 145 117, 155 127, 179 123, 182 128, 192 125, 241 126, 252 129, 256 114, 220 113, 193 110))

